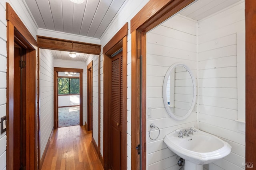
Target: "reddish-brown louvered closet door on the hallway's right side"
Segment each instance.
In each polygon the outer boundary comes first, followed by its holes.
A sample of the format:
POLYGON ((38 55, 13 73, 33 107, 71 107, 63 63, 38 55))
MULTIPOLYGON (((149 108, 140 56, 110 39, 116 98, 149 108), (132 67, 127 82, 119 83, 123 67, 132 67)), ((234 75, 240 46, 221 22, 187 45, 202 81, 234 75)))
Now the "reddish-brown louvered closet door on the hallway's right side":
POLYGON ((111 83, 111 169, 121 167, 122 139, 122 52, 112 58, 111 83))

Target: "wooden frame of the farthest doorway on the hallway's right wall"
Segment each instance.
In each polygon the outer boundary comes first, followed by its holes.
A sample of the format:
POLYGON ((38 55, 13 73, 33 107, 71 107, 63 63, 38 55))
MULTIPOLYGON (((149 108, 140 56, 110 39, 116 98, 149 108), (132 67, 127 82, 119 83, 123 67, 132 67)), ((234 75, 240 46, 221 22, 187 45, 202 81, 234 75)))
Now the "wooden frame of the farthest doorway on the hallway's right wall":
POLYGON ((87 125, 86 125, 86 128, 87 128, 87 131, 90 131, 90 130, 92 130, 92 121, 93 121, 93 119, 92 119, 92 105, 91 105, 91 110, 89 110, 89 107, 90 107, 90 104, 89 104, 89 102, 88 101, 90 101, 91 100, 91 102, 92 102, 92 61, 87 65, 87 125), (88 79, 88 77, 89 77, 89 72, 88 72, 88 70, 91 70, 91 78, 90 78, 90 80, 88 79), (90 90, 90 88, 89 88, 89 84, 90 84, 90 86, 91 86, 91 90, 90 90), (91 99, 90 99, 90 97, 89 97, 89 95, 88 94, 91 94, 91 99), (90 113, 90 114, 89 114, 90 113), (90 121, 89 121, 89 119, 90 119, 90 121), (88 123, 88 122, 90 122, 90 123, 88 123))

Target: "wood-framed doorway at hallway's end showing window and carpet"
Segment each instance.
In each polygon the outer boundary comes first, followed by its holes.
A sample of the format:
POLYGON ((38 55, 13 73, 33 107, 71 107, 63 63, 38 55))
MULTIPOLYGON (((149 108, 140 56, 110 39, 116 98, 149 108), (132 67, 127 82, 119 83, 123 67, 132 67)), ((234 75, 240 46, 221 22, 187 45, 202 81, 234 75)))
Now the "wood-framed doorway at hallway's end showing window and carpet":
POLYGON ((54 129, 82 126, 82 74, 83 69, 54 67, 54 129))

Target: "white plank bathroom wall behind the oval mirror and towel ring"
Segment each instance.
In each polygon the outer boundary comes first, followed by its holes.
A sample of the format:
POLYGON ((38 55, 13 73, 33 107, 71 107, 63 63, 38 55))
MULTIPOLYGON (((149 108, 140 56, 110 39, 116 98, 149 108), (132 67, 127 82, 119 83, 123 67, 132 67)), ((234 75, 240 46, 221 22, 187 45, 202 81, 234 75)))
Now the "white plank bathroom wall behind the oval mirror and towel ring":
MULTIPOLYGON (((147 33, 147 110, 151 108, 150 123, 160 128, 160 136, 152 141, 147 134, 148 170, 178 170, 179 157, 167 148, 163 139, 180 127, 196 126, 196 112, 184 121, 170 118, 164 107, 162 86, 168 68, 174 63, 184 63, 196 78, 196 22, 174 16, 147 33)), ((149 110, 148 110, 149 111, 149 110)), ((158 130, 150 132, 156 137, 158 130)))

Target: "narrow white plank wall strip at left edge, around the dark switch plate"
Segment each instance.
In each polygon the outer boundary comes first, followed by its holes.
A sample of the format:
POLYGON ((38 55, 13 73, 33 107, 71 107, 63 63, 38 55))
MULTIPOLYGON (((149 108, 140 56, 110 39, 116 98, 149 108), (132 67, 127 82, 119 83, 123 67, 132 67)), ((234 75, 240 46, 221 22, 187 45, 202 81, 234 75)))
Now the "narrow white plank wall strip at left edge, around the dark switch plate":
MULTIPOLYGON (((0 117, 6 115, 6 20, 5 6, 0 4, 0 117)), ((2 122, 0 122, 1 125, 2 122)), ((0 135, 0 170, 6 168, 6 132, 0 135)))

